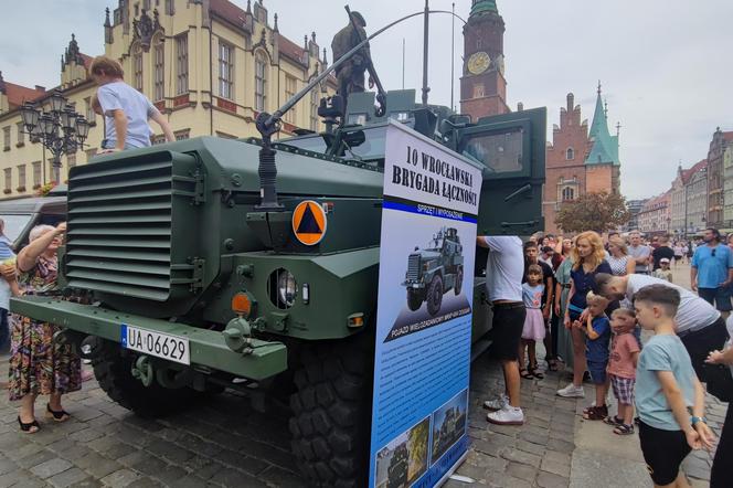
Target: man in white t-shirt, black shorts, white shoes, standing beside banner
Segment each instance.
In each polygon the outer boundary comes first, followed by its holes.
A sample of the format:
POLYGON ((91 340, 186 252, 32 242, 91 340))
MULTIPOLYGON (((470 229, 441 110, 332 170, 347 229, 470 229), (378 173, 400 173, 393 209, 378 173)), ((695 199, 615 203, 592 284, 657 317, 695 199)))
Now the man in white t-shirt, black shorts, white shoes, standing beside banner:
POLYGON ((492 304, 493 357, 501 361, 506 391, 496 400, 484 402, 493 412, 492 424, 522 425, 524 413, 519 405, 519 343, 524 327, 522 277, 524 253, 517 236, 479 236, 477 243, 489 250, 486 261, 486 290, 492 304))

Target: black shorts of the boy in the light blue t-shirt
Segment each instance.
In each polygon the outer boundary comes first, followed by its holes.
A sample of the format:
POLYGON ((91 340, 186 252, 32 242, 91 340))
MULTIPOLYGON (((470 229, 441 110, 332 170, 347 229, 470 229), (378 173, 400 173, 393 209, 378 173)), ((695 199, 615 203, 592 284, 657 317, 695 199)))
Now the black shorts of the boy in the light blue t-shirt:
POLYGON ((639 422, 639 443, 651 480, 670 485, 680 473, 682 460, 692 448, 682 431, 665 431, 639 422))

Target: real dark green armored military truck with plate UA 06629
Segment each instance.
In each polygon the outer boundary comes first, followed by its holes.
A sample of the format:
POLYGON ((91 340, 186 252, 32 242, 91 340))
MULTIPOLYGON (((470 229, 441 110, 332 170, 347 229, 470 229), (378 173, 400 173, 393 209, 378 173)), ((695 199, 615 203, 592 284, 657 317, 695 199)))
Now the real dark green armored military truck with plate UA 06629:
MULTIPOLYGON (((544 108, 471 120, 416 104, 414 89, 378 84, 376 94, 323 98, 323 132, 274 138, 284 114, 365 43, 273 114, 259 113, 259 138, 193 137, 71 168, 64 295, 11 300, 13 312, 60 325, 57 339, 92 361, 110 399, 139 415, 170 414, 224 388, 284 400, 293 455, 312 486, 362 487, 369 476, 390 120, 484 169, 479 233, 543 227, 544 108), (519 141, 507 148, 510 171, 471 156, 504 153, 496 148, 508 139, 519 141), (309 229, 322 233, 312 245, 294 232, 306 200, 328 220, 309 229)), ((474 289, 463 293, 472 303, 474 339, 485 344, 490 320, 477 269, 474 289)))

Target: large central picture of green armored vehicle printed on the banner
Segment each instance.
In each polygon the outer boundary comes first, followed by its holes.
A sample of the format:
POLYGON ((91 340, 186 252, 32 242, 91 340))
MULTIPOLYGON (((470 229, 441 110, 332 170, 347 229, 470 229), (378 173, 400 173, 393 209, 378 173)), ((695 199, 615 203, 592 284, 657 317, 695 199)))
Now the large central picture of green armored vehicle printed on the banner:
POLYGON ((443 295, 455 291, 460 295, 464 284, 464 256, 458 231, 443 227, 428 245, 407 258, 405 282, 407 287, 407 307, 415 311, 427 301, 427 312, 432 316, 440 310, 443 295))

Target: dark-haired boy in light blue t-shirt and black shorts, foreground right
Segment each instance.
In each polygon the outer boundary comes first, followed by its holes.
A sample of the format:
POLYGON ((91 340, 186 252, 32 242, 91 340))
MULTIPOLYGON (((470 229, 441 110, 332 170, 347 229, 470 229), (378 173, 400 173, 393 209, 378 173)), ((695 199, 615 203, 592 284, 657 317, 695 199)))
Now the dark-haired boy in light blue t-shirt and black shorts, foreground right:
POLYGON ((655 486, 688 486, 682 460, 691 449, 711 449, 714 439, 703 416, 705 392, 674 333, 679 305, 680 293, 665 285, 645 286, 634 295, 636 319, 655 331, 636 370, 639 442, 655 486))

